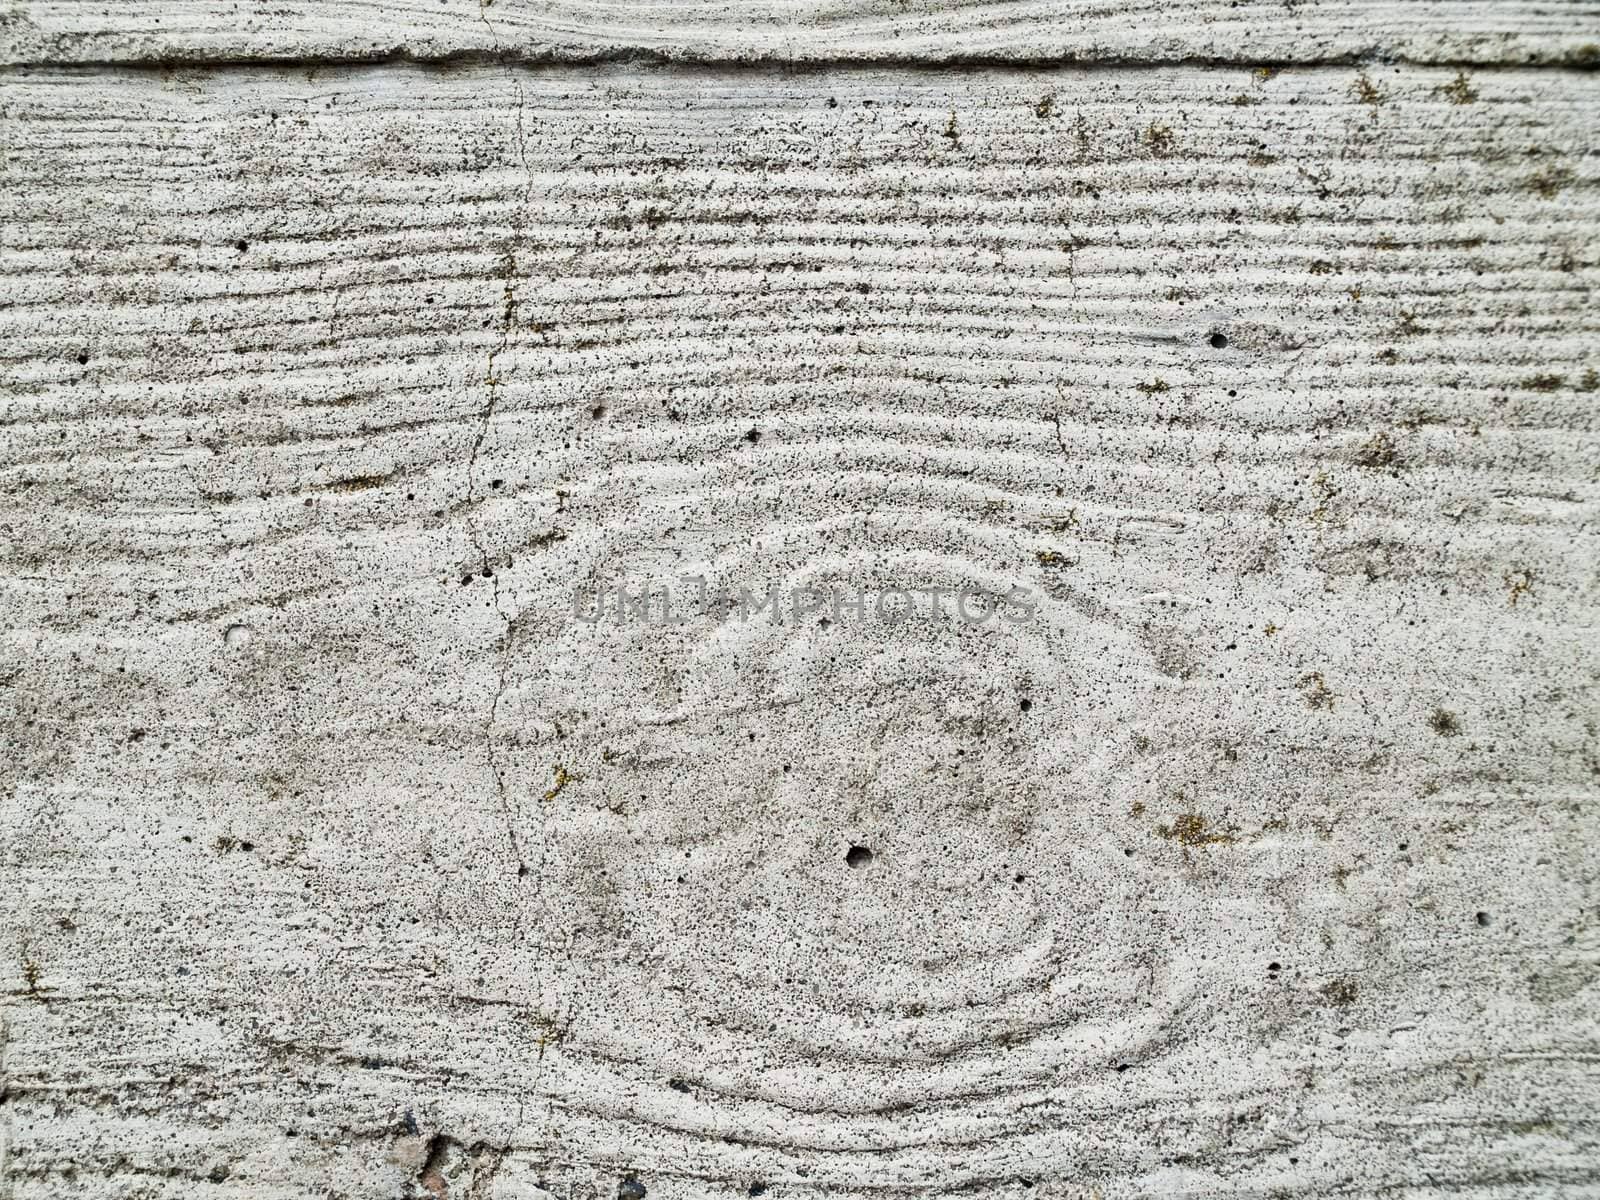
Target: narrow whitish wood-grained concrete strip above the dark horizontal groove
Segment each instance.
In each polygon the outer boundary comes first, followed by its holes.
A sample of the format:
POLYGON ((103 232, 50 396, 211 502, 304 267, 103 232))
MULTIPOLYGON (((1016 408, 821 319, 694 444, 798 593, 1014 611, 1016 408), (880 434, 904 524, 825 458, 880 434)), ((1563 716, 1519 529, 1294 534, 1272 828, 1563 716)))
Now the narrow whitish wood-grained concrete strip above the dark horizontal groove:
POLYGON ((10 0, 0 62, 517 54, 1600 66, 1595 0, 10 0))

